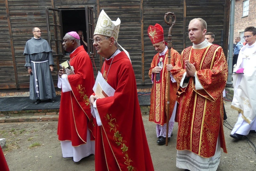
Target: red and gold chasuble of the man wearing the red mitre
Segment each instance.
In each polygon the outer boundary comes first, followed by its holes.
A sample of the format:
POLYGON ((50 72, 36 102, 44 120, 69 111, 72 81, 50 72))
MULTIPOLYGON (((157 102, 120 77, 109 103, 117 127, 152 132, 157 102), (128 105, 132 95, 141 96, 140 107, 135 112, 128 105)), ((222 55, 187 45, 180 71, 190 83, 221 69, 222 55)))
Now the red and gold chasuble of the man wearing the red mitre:
MULTIPOLYGON (((157 53, 152 62, 151 62, 151 68, 148 72, 148 75, 150 76, 150 79, 153 81, 152 91, 151 91, 151 105, 150 105, 150 116, 149 121, 154 122, 156 124, 159 124, 163 126, 163 124, 166 123, 166 111, 167 111, 167 67, 168 64, 168 50, 163 56, 159 56, 159 53, 157 53), (162 60, 161 60, 162 59, 162 60), (152 70, 158 66, 158 63, 160 61, 163 62, 162 70, 160 72, 160 80, 156 80, 156 75, 152 73, 152 70), (152 75, 153 74, 153 75, 152 75)), ((175 51, 174 49, 171 49, 171 59, 170 64, 173 67, 181 67, 181 61, 180 61, 180 54, 175 51)), ((180 85, 180 84, 179 84, 180 85)), ((177 83, 172 83, 170 81, 170 104, 169 104, 169 119, 172 116, 172 111, 175 105, 176 101, 176 92, 177 92, 177 83)))

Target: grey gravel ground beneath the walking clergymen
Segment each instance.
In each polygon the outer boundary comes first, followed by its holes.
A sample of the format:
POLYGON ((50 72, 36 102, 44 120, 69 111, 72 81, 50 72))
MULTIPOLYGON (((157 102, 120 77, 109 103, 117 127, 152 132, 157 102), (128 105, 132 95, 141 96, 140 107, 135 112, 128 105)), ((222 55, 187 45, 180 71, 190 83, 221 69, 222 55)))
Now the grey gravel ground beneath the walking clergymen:
MULTIPOLYGON (((237 112, 230 109, 231 102, 225 104, 230 126, 225 123, 225 138, 228 154, 221 155, 217 171, 253 171, 256 170, 255 147, 246 139, 234 141, 229 134, 231 126, 237 121, 237 112)), ((156 144, 155 124, 148 122, 144 115, 143 122, 148 145, 156 171, 182 171, 176 168, 177 123, 174 124, 173 137, 168 146, 156 144)), ((58 122, 1 123, 0 138, 6 138, 3 148, 10 171, 93 171, 94 155, 74 162, 72 158, 62 158, 60 142, 57 136, 58 122)), ((256 133, 247 136, 256 145, 256 133)), ((0 169, 1 170, 1 169, 0 169)))

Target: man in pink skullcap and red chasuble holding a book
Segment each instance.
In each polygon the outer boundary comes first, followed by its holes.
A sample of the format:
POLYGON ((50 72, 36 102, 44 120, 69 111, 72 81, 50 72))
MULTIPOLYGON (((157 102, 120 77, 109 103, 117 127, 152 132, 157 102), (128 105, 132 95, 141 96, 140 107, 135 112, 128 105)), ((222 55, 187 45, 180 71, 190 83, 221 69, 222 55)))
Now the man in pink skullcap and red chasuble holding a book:
POLYGON ((90 112, 89 96, 93 93, 94 73, 90 57, 75 31, 63 38, 63 48, 70 54, 74 74, 59 70, 58 87, 61 88, 58 131, 63 157, 75 162, 94 154, 95 125, 90 112))

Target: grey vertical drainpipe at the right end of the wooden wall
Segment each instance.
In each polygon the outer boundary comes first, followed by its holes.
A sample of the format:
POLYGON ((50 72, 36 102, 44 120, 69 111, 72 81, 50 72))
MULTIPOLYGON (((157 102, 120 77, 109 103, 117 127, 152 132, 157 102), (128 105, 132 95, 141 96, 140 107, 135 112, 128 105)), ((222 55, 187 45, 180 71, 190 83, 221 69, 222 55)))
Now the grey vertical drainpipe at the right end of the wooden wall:
POLYGON ((228 81, 227 87, 232 87, 232 62, 233 62, 233 40, 234 40, 234 11, 235 0, 231 0, 230 8, 230 27, 229 27, 229 46, 228 46, 228 81))

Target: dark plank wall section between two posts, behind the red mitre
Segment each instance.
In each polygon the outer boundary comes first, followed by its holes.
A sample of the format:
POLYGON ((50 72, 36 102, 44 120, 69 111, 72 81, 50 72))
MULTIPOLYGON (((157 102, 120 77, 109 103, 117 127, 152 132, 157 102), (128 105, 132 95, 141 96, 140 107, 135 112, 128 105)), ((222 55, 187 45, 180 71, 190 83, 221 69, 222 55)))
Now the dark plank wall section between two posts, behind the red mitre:
MULTIPOLYGON (((144 0, 144 66, 145 66, 145 84, 152 84, 148 76, 148 71, 151 66, 152 59, 156 55, 155 48, 153 47, 148 35, 147 28, 150 25, 160 24, 163 27, 165 41, 168 41, 168 32, 170 26, 165 23, 164 17, 167 12, 172 12, 176 16, 176 23, 172 27, 172 47, 179 53, 183 49, 183 0, 144 0)), ((169 21, 169 19, 168 19, 169 21)))

